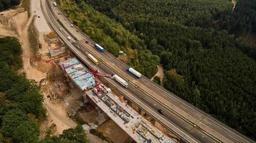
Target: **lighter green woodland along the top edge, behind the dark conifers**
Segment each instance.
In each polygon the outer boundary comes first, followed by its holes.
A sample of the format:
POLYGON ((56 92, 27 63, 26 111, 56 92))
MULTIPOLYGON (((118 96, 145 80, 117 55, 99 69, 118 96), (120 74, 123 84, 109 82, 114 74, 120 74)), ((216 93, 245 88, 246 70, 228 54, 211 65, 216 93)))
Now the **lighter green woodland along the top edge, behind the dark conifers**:
MULTIPOLYGON (((79 1, 79 0, 76 0, 79 1)), ((81 0, 80 0, 81 1, 81 0)), ((230 14, 229 0, 84 0, 100 12, 134 30, 133 21, 160 20, 186 26, 212 27, 213 20, 230 14)))

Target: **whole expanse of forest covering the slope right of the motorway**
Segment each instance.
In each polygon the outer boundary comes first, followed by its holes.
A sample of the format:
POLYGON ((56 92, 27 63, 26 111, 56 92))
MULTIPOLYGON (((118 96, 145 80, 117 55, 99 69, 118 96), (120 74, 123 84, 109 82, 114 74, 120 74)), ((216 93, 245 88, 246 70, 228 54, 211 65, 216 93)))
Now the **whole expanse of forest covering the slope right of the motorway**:
MULTIPOLYGON (((116 49, 126 51, 129 50, 125 45, 134 44, 131 49, 139 54, 134 54, 128 64, 139 71, 136 61, 148 62, 151 55, 159 57, 165 68, 166 89, 255 140, 256 62, 250 57, 255 59, 252 53, 256 45, 229 34, 239 26, 250 30, 248 25, 255 25, 255 14, 246 17, 250 24, 239 22, 247 14, 246 9, 255 12, 255 8, 249 8, 255 3, 239 0, 238 10, 232 13, 230 0, 76 0, 77 7, 73 2, 66 3, 69 8, 64 11, 77 16, 73 21, 93 40, 106 42, 102 35, 107 35, 116 49), (244 6, 248 8, 243 9, 244 6), (234 20, 239 11, 244 12, 235 24, 227 20, 234 20), (81 20, 79 14, 86 18, 81 20), (214 24, 216 21, 221 23, 220 27, 214 24), (230 28, 224 26, 231 24, 230 28), (125 40, 133 34, 136 40, 128 38, 127 44, 125 40)), ((113 51, 111 48, 115 55, 113 51)))

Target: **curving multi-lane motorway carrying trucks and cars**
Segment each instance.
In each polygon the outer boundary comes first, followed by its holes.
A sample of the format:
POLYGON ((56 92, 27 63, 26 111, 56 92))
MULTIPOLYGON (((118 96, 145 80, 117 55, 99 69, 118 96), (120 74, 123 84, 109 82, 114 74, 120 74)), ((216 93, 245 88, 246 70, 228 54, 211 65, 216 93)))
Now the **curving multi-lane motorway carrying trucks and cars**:
MULTIPOLYGON (((139 105, 142 107, 143 111, 153 116, 157 121, 166 126, 166 128, 173 131, 178 137, 181 137, 186 142, 198 143, 254 142, 250 138, 231 129, 215 118, 212 118, 210 115, 207 115, 163 87, 160 87, 158 84, 150 81, 145 76, 142 76, 140 79, 132 76, 126 71, 127 65, 116 59, 107 51, 101 53, 94 48, 94 42, 92 40, 86 35, 81 34, 81 32, 77 32, 75 27, 71 27, 71 23, 68 20, 64 20, 64 15, 58 14, 60 13, 59 9, 53 7, 52 4, 49 8, 47 2, 52 3, 52 1, 42 1, 46 18, 52 25, 52 28, 70 49, 73 50, 82 61, 89 64, 89 67, 98 69, 102 73, 118 74, 128 81, 129 87, 127 89, 124 89, 116 83, 117 90, 126 93, 126 95, 131 94, 136 96, 136 100, 143 103, 139 105), (62 23, 62 26, 57 20, 62 23), (59 31, 59 28, 62 28, 63 31, 59 31), (67 36, 72 37, 72 41, 67 40, 67 36), (76 41, 74 38, 76 38, 76 41), (85 43, 85 40, 88 40, 89 43, 85 43), (77 49, 75 45, 80 45, 81 48, 77 49), (91 53, 96 59, 99 59, 99 64, 97 66, 93 64, 93 62, 84 56, 85 52, 91 53), (165 114, 158 114, 158 109, 162 109, 165 114)), ((108 81, 116 82, 109 79, 108 81)), ((135 102, 134 100, 133 102, 135 102)))

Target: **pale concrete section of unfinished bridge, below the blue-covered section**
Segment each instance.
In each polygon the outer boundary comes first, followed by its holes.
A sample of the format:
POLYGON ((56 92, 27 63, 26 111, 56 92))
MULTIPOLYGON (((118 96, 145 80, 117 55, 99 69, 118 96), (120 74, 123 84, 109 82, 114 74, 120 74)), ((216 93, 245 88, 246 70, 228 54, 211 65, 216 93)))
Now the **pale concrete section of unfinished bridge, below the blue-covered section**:
POLYGON ((105 87, 104 92, 98 95, 95 94, 95 91, 95 89, 84 91, 84 96, 89 98, 90 103, 95 106, 102 118, 111 118, 137 143, 175 143, 122 99, 114 95, 108 87, 105 87))

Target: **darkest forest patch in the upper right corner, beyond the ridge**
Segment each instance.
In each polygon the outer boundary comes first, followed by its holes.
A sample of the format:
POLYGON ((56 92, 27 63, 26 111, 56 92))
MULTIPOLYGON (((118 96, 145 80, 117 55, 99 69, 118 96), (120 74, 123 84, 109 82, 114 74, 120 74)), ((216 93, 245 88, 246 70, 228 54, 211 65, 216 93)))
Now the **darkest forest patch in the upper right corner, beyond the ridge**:
MULTIPOLYGON (((256 2, 255 0, 239 0, 231 15, 220 22, 220 28, 235 34, 235 37, 253 35, 249 43, 256 44, 256 2)), ((241 41, 241 39, 238 39, 241 41)), ((237 44, 244 44, 238 42, 237 44)), ((256 48, 252 45, 240 46, 239 50, 256 60, 256 48)))

